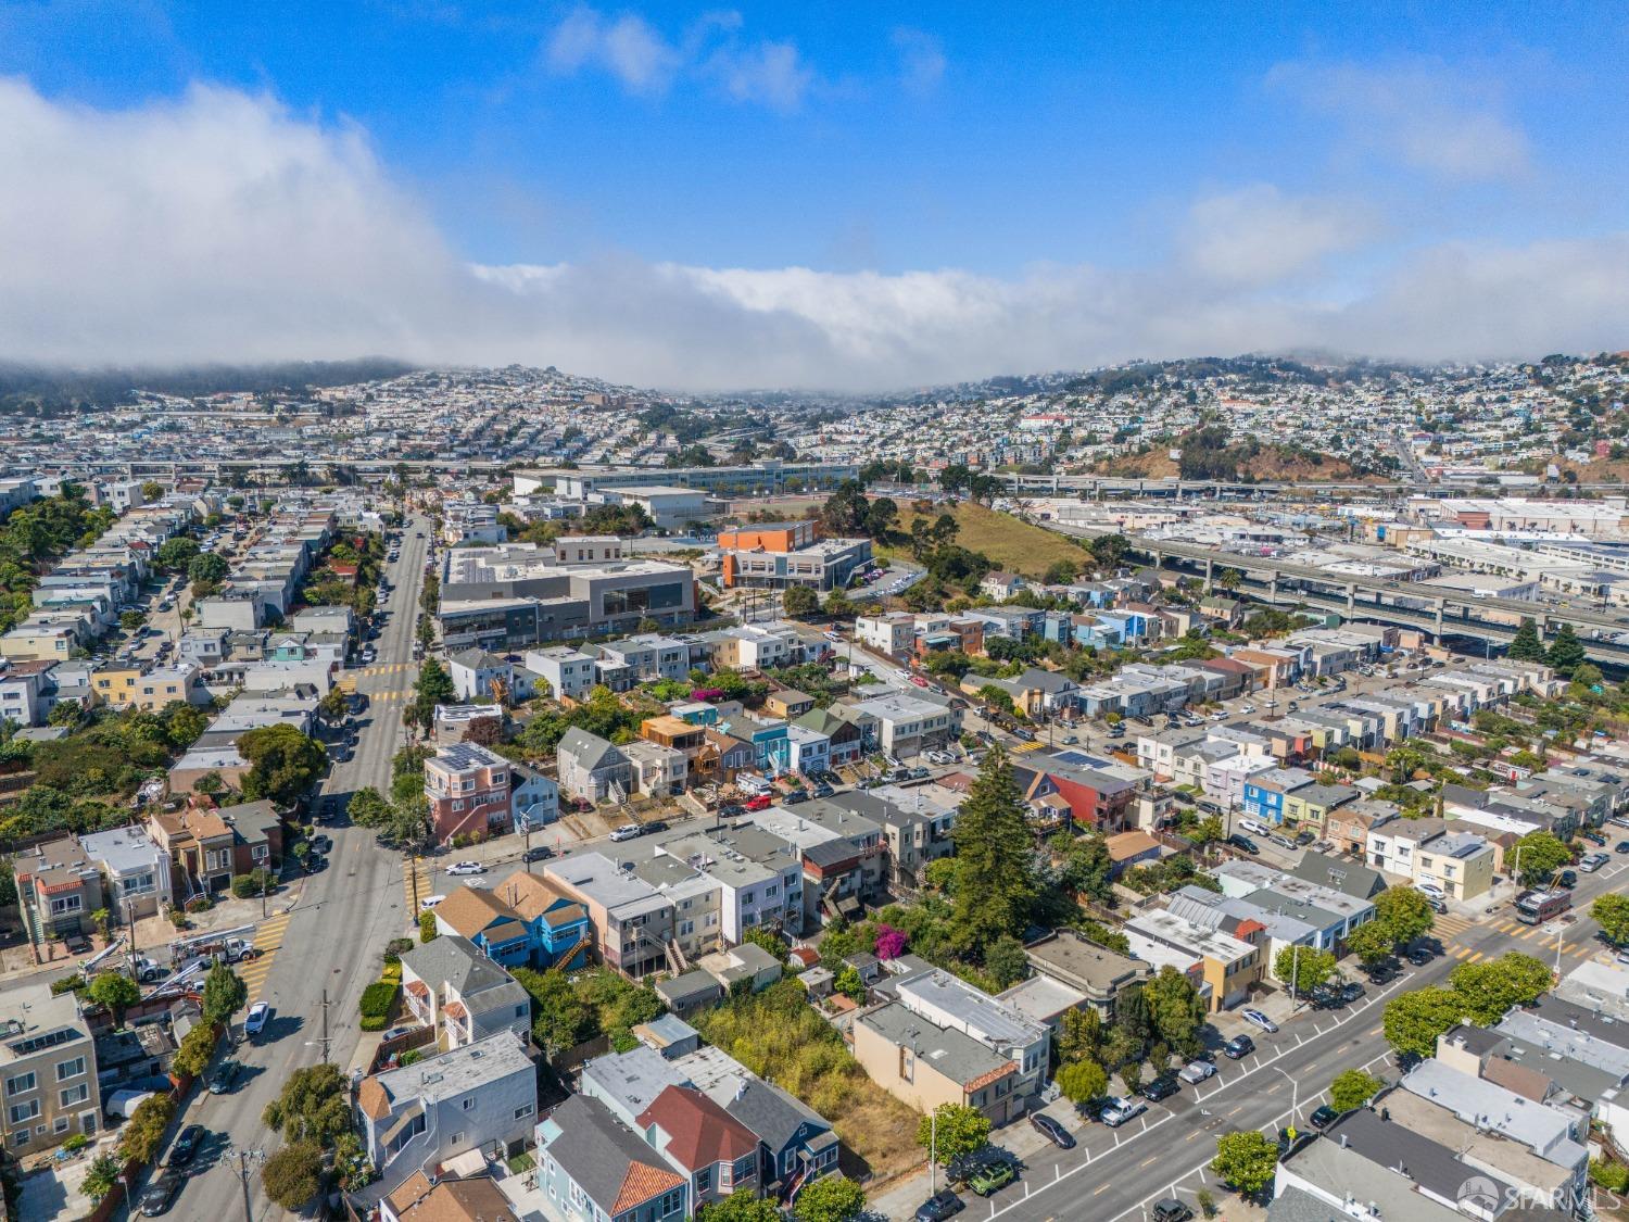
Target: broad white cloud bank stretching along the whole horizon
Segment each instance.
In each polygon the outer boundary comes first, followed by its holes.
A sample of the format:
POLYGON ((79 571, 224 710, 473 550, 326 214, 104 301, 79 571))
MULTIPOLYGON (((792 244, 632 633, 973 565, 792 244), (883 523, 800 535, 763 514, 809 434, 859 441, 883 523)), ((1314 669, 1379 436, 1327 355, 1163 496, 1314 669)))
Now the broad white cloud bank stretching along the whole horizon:
POLYGON ((1337 295, 1318 262, 1350 249, 1362 213, 1261 186, 1201 200, 1170 262, 1002 279, 617 256, 471 267, 365 134, 222 88, 98 111, 0 80, 0 360, 388 354, 658 386, 886 388, 1300 345, 1533 357, 1629 334, 1629 233, 1412 251, 1337 295))

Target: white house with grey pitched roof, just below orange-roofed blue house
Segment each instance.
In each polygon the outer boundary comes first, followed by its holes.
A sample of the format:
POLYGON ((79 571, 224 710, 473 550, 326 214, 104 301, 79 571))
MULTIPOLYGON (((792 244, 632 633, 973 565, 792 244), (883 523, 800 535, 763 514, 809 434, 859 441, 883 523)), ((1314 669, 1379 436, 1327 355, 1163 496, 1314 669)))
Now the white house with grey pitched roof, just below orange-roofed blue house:
POLYGON ((443 1049, 513 1031, 531 1035, 531 999, 466 937, 432 938, 402 955, 402 999, 443 1049))

